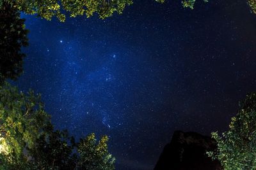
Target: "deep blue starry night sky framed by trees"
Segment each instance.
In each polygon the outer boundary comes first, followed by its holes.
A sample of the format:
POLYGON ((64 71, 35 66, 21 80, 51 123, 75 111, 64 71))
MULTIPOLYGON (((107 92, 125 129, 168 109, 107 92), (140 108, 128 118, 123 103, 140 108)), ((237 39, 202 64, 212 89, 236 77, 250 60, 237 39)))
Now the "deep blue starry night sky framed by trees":
POLYGON ((246 1, 136 1, 123 15, 26 18, 15 85, 40 92, 56 129, 107 134, 116 169, 153 169, 173 131, 227 130, 256 91, 256 15, 246 1))

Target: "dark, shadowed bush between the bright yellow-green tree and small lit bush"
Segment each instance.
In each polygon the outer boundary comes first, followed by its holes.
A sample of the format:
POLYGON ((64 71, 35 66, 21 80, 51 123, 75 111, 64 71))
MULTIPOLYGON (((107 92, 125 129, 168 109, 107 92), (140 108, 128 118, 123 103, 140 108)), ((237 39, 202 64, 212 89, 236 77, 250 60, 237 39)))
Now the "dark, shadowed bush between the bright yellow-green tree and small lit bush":
POLYGON ((32 169, 75 169, 76 154, 73 154, 74 138, 67 131, 54 131, 53 127, 45 129, 36 140, 35 148, 29 150, 33 161, 32 169), (70 145, 72 144, 72 145, 70 145))

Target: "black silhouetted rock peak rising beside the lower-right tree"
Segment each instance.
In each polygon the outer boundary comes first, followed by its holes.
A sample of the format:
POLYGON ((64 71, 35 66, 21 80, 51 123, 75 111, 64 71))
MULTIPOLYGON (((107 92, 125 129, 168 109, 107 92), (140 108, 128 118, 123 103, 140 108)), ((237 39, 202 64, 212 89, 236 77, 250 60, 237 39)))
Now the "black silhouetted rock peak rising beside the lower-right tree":
POLYGON ((171 143, 164 146, 154 170, 223 169, 220 162, 206 155, 216 149, 216 141, 196 132, 175 131, 171 143))

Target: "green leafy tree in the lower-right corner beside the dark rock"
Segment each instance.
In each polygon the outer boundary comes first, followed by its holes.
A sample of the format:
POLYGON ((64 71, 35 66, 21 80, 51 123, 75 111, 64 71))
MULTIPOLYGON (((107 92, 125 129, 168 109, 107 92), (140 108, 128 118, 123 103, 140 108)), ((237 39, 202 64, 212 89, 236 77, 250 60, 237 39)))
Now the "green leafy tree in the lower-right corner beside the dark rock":
POLYGON ((212 133, 218 148, 208 155, 220 160, 224 169, 256 169, 256 93, 247 95, 239 106, 229 130, 222 136, 212 133))

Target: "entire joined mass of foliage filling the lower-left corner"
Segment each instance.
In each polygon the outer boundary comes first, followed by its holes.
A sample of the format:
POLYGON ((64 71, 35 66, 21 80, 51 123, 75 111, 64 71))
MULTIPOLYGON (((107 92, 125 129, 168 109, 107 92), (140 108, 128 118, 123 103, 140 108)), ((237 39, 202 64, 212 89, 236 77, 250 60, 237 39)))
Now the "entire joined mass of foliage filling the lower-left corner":
POLYGON ((76 143, 67 131, 54 131, 40 95, 0 86, 0 169, 115 169, 108 137, 95 134, 76 143))

